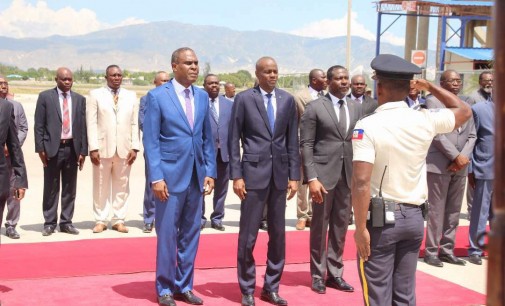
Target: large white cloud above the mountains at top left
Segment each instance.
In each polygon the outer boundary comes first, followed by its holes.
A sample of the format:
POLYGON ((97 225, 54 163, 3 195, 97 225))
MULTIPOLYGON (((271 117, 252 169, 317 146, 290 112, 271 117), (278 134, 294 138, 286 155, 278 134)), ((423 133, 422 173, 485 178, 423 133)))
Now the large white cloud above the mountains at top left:
POLYGON ((7 9, 0 12, 0 35, 15 38, 72 36, 139 23, 145 21, 128 18, 110 25, 99 21, 96 13, 89 9, 64 7, 53 10, 45 1, 39 0, 32 5, 25 0, 13 0, 7 9))

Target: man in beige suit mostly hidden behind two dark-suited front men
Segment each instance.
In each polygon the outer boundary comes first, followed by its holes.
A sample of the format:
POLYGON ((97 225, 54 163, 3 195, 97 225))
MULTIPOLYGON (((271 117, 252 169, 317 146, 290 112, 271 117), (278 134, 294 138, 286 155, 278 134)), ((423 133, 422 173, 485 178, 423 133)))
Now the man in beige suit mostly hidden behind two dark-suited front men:
MULTIPOLYGON (((298 108, 298 123, 300 123, 300 118, 307 104, 310 101, 324 96, 326 86, 326 73, 321 69, 312 69, 309 73, 309 85, 294 96, 296 107, 298 108)), ((296 222, 297 230, 303 230, 305 226, 310 226, 310 221, 312 219, 312 200, 307 199, 307 188, 308 185, 303 185, 302 169, 302 179, 298 181, 298 199, 296 206, 296 217, 298 218, 296 222)))

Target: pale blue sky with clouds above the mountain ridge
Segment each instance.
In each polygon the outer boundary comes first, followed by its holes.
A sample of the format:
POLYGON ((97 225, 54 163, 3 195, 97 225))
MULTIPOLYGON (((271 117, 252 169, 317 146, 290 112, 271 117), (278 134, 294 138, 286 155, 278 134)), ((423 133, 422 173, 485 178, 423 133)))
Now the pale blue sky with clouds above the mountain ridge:
MULTIPOLYGON (((345 35, 347 3, 346 0, 2 0, 0 35, 17 38, 75 35, 172 20, 323 38, 345 35)), ((354 0, 352 11, 353 35, 375 39, 374 2, 354 0)), ((402 44, 402 27, 388 35, 386 40, 402 44)))

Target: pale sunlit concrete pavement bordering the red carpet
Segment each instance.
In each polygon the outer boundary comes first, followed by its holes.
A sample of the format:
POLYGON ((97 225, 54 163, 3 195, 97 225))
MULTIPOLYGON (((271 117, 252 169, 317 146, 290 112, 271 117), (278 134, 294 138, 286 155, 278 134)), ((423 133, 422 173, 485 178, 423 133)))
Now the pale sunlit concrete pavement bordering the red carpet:
MULTIPOLYGON (((19 222, 19 233, 21 239, 12 240, 5 236, 2 237, 2 243, 27 243, 27 242, 51 242, 67 241, 76 239, 100 239, 100 238, 122 238, 122 237, 143 237, 154 236, 142 233, 142 200, 144 193, 144 160, 137 159, 133 165, 130 176, 130 198, 126 225, 129 227, 128 234, 121 234, 112 230, 107 230, 101 234, 93 234, 92 228, 95 224, 92 211, 92 173, 91 162, 86 159, 82 172, 78 174, 78 191, 76 207, 74 214, 74 225, 81 231, 78 236, 72 236, 64 233, 55 233, 49 237, 43 237, 41 234, 44 219, 42 216, 42 190, 43 190, 43 170, 38 154, 34 150, 33 124, 36 95, 16 95, 16 100, 21 102, 25 108, 25 113, 29 123, 28 138, 23 146, 25 161, 28 171, 29 189, 21 205, 21 220, 19 222)), ((139 156, 141 156, 139 154, 139 156)), ((230 185, 231 187, 231 185, 230 185)), ((207 217, 212 211, 210 197, 207 197, 207 217)), ((238 197, 233 194, 230 188, 226 201, 226 217, 223 224, 226 226, 227 233, 238 232, 238 220, 240 215, 240 204, 238 197)), ((462 211, 466 208, 462 209, 462 211)), ((4 212, 4 215, 6 212, 4 212)), ((289 201, 286 208, 286 230, 296 230, 296 203, 289 201)), ((203 234, 218 234, 220 232, 209 228, 204 229, 203 234)), ((461 225, 467 225, 468 221, 465 215, 460 220, 461 225)), ((351 226, 353 228, 353 226, 351 226)), ((2 227, 2 235, 5 229, 2 227)), ((353 243, 349 241, 348 243, 353 243)), ((307 246, 308 247, 308 246, 307 246)), ((482 266, 476 266, 468 263, 464 267, 446 264, 443 268, 435 268, 425 264, 422 260, 419 262, 418 269, 434 276, 446 279, 448 281, 460 284, 466 288, 480 293, 486 292, 486 270, 487 260, 484 260, 482 266)), ((441 293, 443 294, 443 293, 441 293)))

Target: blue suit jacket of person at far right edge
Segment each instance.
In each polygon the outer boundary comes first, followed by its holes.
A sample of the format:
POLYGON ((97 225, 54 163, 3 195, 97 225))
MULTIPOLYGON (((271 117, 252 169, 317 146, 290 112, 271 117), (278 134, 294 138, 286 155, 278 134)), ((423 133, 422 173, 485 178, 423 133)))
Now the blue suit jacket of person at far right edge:
POLYGON ((480 102, 472 105, 477 141, 473 149, 472 168, 476 179, 494 179, 495 105, 480 102))

